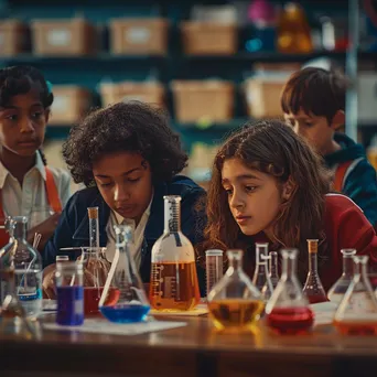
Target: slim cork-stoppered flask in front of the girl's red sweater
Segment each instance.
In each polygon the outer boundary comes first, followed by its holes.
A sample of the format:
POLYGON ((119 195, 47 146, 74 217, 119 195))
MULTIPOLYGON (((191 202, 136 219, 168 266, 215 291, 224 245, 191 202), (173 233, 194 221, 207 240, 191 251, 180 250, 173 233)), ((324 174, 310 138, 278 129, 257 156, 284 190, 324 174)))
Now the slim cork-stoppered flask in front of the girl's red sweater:
POLYGON ((326 292, 323 289, 319 271, 316 255, 319 251, 319 240, 308 239, 308 251, 309 251, 309 271, 306 281, 303 288, 303 292, 306 294, 308 300, 311 304, 328 301, 326 292))

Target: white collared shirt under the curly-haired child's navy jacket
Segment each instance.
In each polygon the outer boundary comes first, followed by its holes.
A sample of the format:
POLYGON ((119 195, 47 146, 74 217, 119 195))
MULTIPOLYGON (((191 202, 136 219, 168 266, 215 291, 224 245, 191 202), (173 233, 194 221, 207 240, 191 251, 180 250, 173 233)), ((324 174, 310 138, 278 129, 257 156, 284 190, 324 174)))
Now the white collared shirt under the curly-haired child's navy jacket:
POLYGON ((141 248, 142 248, 142 243, 144 239, 146 226, 149 219, 149 215, 151 213, 152 201, 153 201, 153 195, 147 209, 142 214, 141 219, 137 227, 136 227, 136 222, 133 219, 123 218, 117 212, 111 211, 109 220, 107 222, 107 226, 106 226, 106 233, 107 233, 106 259, 108 261, 110 262, 112 261, 115 251, 116 251, 116 237, 115 237, 114 225, 126 224, 132 228, 133 244, 130 245, 130 251, 131 251, 131 256, 133 257, 136 268, 138 270, 140 269, 141 248))

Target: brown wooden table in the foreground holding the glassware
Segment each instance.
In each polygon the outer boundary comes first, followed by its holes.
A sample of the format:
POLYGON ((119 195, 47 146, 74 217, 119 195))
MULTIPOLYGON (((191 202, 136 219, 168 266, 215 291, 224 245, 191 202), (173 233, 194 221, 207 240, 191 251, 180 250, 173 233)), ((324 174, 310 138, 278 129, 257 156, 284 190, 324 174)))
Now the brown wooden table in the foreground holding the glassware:
POLYGON ((377 337, 325 326, 303 336, 262 326, 255 336, 226 335, 206 317, 184 321, 185 327, 137 336, 44 331, 28 342, 0 335, 0 370, 7 370, 0 376, 377 376, 377 337))

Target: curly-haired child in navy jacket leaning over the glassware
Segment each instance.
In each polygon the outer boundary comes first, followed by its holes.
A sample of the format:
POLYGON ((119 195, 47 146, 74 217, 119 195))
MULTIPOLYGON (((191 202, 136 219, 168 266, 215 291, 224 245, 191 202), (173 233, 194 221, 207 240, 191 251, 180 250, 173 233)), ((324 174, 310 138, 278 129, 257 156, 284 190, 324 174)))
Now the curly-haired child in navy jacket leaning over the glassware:
MULTIPOLYGON (((164 195, 180 195, 182 231, 194 248, 203 240, 205 191, 184 175, 187 154, 165 115, 140 101, 119 103, 95 110, 72 128, 63 157, 76 183, 53 238, 47 243, 44 267, 54 263, 65 247, 89 246, 88 207, 99 208, 99 244, 106 258, 115 255, 114 225, 133 229, 131 254, 143 282, 150 281, 151 249, 163 233, 164 195), (202 203, 202 205, 201 205, 202 203), (202 208, 202 209, 201 209, 202 208)), ((204 273, 197 266, 204 292, 204 273)))

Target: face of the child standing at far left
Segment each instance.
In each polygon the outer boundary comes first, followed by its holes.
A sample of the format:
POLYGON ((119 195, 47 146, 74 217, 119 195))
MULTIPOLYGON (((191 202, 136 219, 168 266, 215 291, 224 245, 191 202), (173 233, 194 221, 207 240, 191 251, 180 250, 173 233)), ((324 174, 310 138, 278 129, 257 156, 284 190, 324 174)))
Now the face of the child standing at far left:
POLYGON ((42 146, 49 110, 43 108, 37 88, 11 97, 0 107, 0 142, 22 157, 30 157, 42 146))

